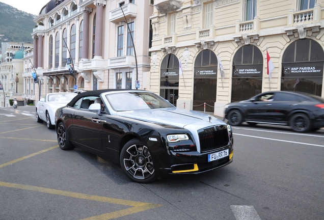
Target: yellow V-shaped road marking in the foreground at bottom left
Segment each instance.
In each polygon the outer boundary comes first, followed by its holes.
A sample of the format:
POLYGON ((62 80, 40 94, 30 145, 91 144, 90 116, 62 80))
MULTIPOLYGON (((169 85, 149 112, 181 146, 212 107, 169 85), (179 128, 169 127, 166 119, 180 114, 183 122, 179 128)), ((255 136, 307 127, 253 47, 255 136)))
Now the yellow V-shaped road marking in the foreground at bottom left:
POLYGON ((22 184, 17 184, 17 183, 0 182, 0 186, 25 189, 25 190, 31 190, 31 191, 38 191, 40 193, 66 196, 66 197, 72 197, 72 198, 77 198, 77 199, 85 199, 85 200, 92 200, 92 201, 98 201, 98 202, 113 203, 113 204, 118 204, 118 205, 133 206, 131 208, 126 208, 126 209, 122 209, 119 211, 109 212, 106 214, 97 215, 97 216, 93 216, 90 218, 85 218, 84 220, 112 219, 112 218, 126 216, 129 214, 133 214, 133 213, 137 213, 137 212, 141 212, 141 211, 145 211, 145 210, 149 210, 149 209, 153 209, 153 208, 162 206, 160 204, 136 202, 136 201, 131 201, 131 200, 123 200, 123 199, 114 199, 114 198, 102 197, 102 196, 93 196, 93 195, 88 195, 88 194, 73 193, 70 191, 44 188, 44 187, 38 187, 38 186, 31 186, 31 185, 22 185, 22 184))

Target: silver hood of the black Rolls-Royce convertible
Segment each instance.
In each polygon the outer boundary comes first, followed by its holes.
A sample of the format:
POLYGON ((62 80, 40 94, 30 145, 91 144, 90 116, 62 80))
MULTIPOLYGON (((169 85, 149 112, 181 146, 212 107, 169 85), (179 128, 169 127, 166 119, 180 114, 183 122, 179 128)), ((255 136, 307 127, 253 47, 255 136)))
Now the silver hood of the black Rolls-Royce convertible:
POLYGON ((217 117, 210 116, 211 119, 209 122, 209 115, 207 114, 179 108, 155 108, 125 111, 117 112, 116 115, 181 128, 194 126, 196 128, 195 130, 212 125, 226 125, 223 120, 217 117))

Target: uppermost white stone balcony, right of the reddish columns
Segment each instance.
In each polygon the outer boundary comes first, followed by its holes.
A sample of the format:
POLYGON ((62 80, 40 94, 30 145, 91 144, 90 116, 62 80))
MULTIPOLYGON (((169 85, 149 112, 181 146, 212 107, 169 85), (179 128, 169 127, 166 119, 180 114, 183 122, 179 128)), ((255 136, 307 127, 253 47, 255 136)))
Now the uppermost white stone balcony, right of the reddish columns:
POLYGON ((117 8, 113 11, 111 11, 109 14, 109 21, 113 23, 120 22, 122 20, 125 20, 123 12, 125 14, 126 19, 130 17, 136 17, 137 15, 137 5, 129 3, 127 5, 124 5, 120 8, 117 8), (122 11, 123 10, 123 11, 122 11))

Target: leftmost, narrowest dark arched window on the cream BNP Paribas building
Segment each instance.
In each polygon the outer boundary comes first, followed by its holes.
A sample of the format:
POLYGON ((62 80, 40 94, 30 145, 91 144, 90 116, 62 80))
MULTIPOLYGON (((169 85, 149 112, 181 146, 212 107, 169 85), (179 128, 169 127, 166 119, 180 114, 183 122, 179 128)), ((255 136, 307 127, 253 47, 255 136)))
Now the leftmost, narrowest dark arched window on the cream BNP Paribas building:
POLYGON ((179 60, 172 53, 161 63, 160 96, 174 105, 179 98, 179 60))

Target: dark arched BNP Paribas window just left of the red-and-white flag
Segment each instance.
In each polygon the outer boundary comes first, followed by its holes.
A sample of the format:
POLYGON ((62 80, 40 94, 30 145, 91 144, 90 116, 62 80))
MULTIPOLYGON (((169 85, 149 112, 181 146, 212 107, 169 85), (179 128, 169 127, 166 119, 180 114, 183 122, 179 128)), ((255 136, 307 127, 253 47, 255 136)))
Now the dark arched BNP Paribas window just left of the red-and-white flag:
POLYGON ((241 101, 251 98, 262 90, 263 56, 254 45, 237 50, 233 59, 232 99, 241 101))

